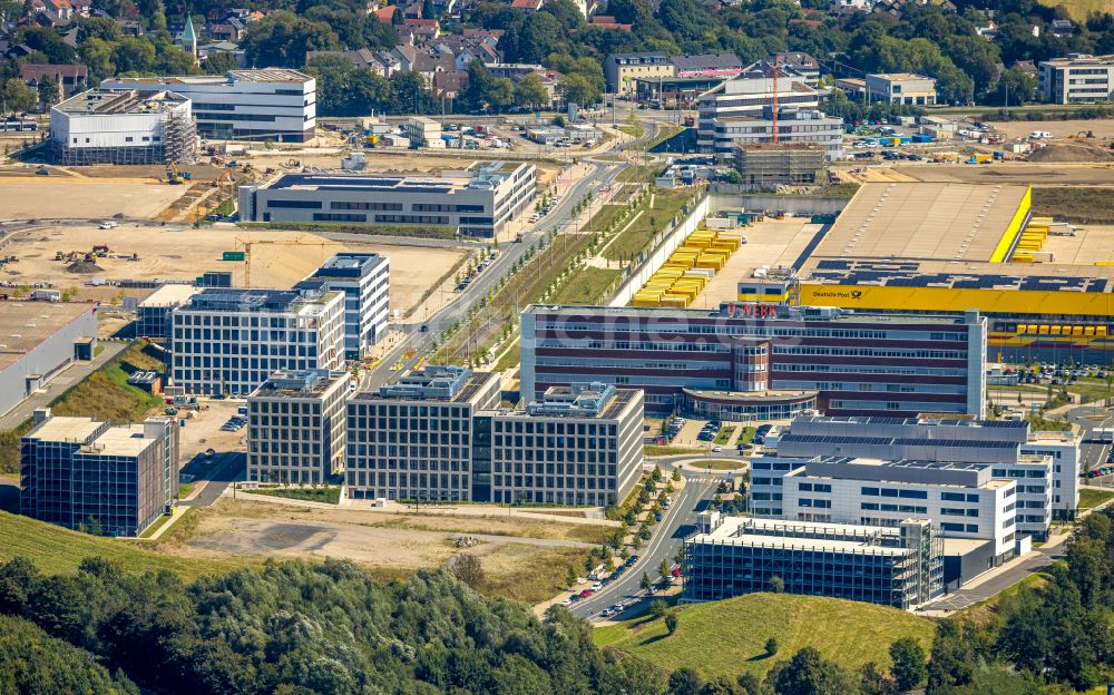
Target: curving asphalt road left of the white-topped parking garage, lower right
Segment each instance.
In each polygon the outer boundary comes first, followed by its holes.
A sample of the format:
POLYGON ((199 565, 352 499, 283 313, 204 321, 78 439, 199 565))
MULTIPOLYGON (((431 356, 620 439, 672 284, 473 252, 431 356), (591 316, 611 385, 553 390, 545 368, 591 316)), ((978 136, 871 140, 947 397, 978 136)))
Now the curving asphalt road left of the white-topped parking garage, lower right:
POLYGON ((696 530, 696 515, 707 506, 715 492, 719 479, 700 473, 684 472, 685 487, 677 493, 673 505, 663 516, 649 542, 638 551, 638 561, 632 565, 618 579, 613 580, 590 598, 569 606, 573 615, 593 618, 605 608, 618 603, 641 601, 647 597, 642 588, 642 575, 652 580, 659 575, 663 559, 673 561, 681 541, 696 530))

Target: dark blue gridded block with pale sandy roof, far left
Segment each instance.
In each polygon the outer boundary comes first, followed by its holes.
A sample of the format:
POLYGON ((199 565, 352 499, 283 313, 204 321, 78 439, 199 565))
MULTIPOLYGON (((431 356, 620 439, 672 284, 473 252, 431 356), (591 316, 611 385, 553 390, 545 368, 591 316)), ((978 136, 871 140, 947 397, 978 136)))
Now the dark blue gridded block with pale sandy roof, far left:
POLYGON ((35 412, 20 440, 20 509, 71 529, 139 536, 174 510, 178 428, 173 419, 113 427, 35 412))

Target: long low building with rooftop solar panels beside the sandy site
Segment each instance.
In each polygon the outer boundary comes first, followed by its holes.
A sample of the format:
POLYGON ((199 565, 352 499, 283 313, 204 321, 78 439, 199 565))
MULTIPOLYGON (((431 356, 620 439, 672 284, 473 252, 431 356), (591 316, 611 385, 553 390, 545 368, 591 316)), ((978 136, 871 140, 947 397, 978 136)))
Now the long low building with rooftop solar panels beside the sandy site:
POLYGON ((475 163, 429 175, 286 174, 240 187, 244 222, 440 227, 491 238, 534 202, 532 164, 475 163))

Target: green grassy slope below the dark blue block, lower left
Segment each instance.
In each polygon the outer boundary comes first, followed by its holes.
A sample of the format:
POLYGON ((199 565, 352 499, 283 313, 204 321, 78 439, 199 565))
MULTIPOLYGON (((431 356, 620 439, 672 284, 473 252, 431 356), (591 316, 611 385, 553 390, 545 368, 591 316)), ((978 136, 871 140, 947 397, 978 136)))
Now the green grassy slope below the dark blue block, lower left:
MULTIPOLYGON (((178 522, 187 521, 188 519, 182 519, 178 522)), ((76 571, 81 560, 98 556, 119 562, 129 571, 169 569, 186 580, 206 572, 227 571, 245 564, 156 552, 140 547, 138 541, 78 534, 6 511, 0 511, 0 538, 3 538, 3 542, 0 542, 0 561, 23 556, 47 574, 76 571)), ((256 558, 252 560, 257 562, 256 558)))

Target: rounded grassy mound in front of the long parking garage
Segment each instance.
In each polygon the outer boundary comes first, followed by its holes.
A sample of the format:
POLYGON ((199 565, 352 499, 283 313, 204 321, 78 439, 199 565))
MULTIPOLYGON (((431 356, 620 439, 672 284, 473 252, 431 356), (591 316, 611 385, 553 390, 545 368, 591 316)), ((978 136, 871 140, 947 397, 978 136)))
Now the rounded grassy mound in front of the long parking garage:
POLYGON ((858 601, 788 594, 751 594, 722 601, 676 608, 677 630, 664 620, 642 616, 597 628, 598 646, 613 646, 665 668, 691 666, 703 676, 762 677, 779 659, 802 647, 815 647, 829 659, 858 668, 873 660, 889 667, 888 649, 900 637, 931 648, 935 623, 927 618, 858 601), (765 658, 765 642, 778 639, 779 653, 765 658))

